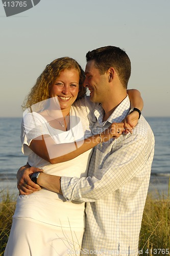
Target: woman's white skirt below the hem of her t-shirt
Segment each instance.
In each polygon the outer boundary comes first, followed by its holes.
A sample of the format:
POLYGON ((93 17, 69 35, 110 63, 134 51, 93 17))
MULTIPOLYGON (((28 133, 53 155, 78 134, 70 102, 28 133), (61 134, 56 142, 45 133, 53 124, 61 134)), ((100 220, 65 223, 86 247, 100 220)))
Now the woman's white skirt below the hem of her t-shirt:
POLYGON ((84 228, 14 218, 4 256, 80 255, 84 228))

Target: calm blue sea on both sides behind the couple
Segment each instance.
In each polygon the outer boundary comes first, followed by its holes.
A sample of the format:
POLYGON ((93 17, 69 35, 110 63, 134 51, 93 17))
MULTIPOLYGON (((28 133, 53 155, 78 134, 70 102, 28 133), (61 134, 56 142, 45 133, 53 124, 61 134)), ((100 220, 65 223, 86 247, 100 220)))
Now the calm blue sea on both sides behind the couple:
MULTIPOLYGON (((155 154, 151 170, 149 191, 169 195, 170 179, 170 117, 145 117, 155 135, 155 154)), ((27 156, 21 152, 21 118, 0 118, 0 192, 18 193, 16 173, 26 164, 27 156)))

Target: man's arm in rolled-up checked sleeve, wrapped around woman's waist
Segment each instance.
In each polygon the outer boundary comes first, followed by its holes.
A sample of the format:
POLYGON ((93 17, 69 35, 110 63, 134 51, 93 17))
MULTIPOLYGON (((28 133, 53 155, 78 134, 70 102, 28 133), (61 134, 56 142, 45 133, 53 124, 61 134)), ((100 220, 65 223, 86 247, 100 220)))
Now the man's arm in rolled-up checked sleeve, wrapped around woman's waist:
MULTIPOLYGON (((63 194, 70 201, 94 202, 100 200, 142 173, 147 159, 145 136, 130 135, 126 139, 126 143, 120 147, 117 140, 115 146, 119 149, 105 159, 102 168, 99 167, 98 170, 95 170, 95 177, 71 178, 42 173, 39 175, 37 183, 46 189, 63 194)), ((119 143, 121 144, 122 140, 119 143)))

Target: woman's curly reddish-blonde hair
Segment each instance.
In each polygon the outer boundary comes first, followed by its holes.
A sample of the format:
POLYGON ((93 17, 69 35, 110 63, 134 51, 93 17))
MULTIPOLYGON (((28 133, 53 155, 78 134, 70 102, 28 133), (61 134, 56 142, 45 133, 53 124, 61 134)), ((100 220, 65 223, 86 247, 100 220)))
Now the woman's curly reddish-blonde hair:
POLYGON ((60 75, 60 72, 65 69, 75 69, 79 72, 79 93, 76 100, 84 97, 86 94, 86 88, 83 87, 85 79, 83 69, 75 59, 62 57, 53 60, 46 66, 42 74, 37 78, 35 86, 31 89, 23 102, 22 109, 25 110, 40 101, 50 98, 51 87, 60 75))

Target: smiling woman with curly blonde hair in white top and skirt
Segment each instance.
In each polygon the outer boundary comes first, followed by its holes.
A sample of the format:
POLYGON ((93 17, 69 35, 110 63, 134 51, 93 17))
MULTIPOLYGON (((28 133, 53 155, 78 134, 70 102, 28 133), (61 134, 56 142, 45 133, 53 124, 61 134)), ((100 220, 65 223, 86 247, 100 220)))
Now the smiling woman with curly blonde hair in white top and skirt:
MULTIPOLYGON (((31 166, 50 175, 87 176, 91 148, 119 137, 123 123, 91 136, 94 105, 85 96, 84 72, 64 57, 47 65, 28 96, 22 122, 22 152, 31 166), (74 104, 73 104, 74 103, 74 104), (73 104, 73 105, 72 105, 73 104)), ((42 188, 20 195, 5 256, 67 255, 81 250, 84 203, 68 202, 42 188)))

